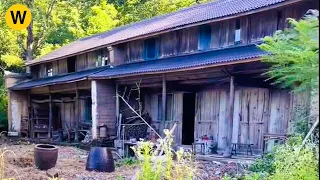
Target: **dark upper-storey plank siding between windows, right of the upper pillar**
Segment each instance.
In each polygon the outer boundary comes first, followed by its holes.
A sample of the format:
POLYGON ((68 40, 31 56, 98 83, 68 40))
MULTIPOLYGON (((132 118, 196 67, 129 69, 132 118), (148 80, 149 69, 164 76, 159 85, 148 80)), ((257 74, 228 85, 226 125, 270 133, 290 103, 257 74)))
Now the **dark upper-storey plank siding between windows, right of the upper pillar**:
MULTIPOLYGON (((288 27, 287 18, 301 18, 308 9, 317 7, 315 1, 303 2, 287 7, 264 11, 220 22, 209 23, 211 37, 209 49, 220 49, 234 45, 245 45, 272 36, 277 30, 288 27), (240 24, 240 42, 235 42, 236 22, 240 24)), ((176 30, 156 36, 158 58, 201 51, 200 26, 176 30)), ((126 43, 125 62, 144 60, 144 40, 126 43)), ((205 49, 208 50, 208 49, 205 49)))

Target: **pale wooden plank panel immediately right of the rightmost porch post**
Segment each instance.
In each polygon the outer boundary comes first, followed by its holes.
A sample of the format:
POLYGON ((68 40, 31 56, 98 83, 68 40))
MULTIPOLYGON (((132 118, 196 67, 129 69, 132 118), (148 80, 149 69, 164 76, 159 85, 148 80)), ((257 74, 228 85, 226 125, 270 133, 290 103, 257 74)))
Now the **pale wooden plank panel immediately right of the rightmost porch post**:
POLYGON ((235 92, 233 143, 253 143, 262 149, 263 134, 268 132, 270 93, 263 88, 242 88, 235 92))

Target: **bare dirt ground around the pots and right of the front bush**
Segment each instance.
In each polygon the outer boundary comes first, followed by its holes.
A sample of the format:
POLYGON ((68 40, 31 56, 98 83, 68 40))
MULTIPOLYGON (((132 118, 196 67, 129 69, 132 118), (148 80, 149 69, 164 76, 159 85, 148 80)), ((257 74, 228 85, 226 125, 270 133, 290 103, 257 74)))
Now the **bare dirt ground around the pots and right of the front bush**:
MULTIPOLYGON (((116 166, 115 172, 99 173, 85 170, 88 152, 75 147, 58 146, 58 161, 54 168, 40 171, 36 168, 33 159, 34 144, 3 143, 0 141, 0 179, 4 177, 21 180, 48 180, 49 174, 58 173, 59 179, 54 180, 124 180, 133 179, 138 168, 136 166, 116 166), (3 154, 3 152, 5 152, 3 154)), ((243 173, 243 165, 247 163, 219 162, 216 160, 198 160, 197 174, 199 180, 221 180, 225 174, 237 176, 243 173)), ((53 180, 53 179, 52 179, 53 180)))

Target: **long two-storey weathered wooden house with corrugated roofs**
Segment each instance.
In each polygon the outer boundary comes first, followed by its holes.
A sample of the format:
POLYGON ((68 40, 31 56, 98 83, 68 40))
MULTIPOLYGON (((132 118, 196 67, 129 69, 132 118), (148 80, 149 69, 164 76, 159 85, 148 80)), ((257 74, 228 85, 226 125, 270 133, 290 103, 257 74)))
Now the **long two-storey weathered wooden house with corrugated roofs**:
POLYGON ((268 53, 256 45, 309 9, 318 1, 218 0, 79 39, 6 76, 9 131, 150 139, 142 116, 160 135, 177 123, 176 145, 210 139, 218 151, 261 153, 268 138, 290 134, 309 94, 266 81, 268 53))

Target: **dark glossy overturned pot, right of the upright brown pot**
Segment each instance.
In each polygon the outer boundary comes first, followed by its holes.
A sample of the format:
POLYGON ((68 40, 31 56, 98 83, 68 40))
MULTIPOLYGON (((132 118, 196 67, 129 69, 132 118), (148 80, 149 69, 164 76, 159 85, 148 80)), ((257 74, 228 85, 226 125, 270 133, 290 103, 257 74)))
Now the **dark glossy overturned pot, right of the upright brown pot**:
POLYGON ((86 170, 98 172, 113 172, 115 169, 111 150, 106 147, 91 147, 86 170))

